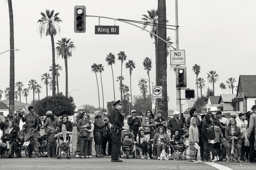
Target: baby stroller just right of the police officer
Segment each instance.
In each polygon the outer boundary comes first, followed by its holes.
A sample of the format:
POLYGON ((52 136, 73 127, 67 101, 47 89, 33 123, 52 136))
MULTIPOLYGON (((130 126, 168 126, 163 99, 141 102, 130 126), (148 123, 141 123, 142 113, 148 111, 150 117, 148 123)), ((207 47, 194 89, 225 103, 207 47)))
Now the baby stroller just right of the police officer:
POLYGON ((126 154, 126 159, 129 159, 129 155, 132 155, 133 158, 135 158, 136 145, 134 142, 132 129, 126 129, 122 131, 122 147, 119 154, 120 158, 123 153, 126 154))

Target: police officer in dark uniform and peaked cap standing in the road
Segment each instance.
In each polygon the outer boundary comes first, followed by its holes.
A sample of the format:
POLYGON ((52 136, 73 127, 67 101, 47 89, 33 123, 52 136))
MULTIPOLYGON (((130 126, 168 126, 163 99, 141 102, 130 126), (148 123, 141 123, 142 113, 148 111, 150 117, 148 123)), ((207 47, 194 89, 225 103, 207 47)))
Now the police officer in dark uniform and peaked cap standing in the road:
POLYGON ((110 123, 112 125, 111 133, 112 133, 112 162, 122 162, 119 157, 120 149, 121 149, 121 129, 124 126, 124 116, 120 113, 122 109, 122 104, 120 100, 114 102, 113 104, 114 110, 110 115, 110 123))

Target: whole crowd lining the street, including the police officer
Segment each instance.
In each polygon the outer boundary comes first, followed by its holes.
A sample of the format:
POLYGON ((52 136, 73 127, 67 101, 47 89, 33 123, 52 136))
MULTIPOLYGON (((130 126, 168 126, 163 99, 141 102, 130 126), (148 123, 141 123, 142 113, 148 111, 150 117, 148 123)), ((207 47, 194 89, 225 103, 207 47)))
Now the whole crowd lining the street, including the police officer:
MULTIPOLYGON (((108 156, 113 162, 122 161, 118 158, 124 126, 120 101, 115 102, 113 108, 111 113, 95 111, 94 118, 83 107, 79 108, 80 113, 76 117, 76 158, 92 158, 94 140, 97 158, 108 156)), ((144 117, 137 116, 137 112, 132 110, 127 124, 133 130, 134 143, 142 152, 141 159, 154 159, 155 156, 160 160, 161 155, 165 152, 169 154, 170 149, 171 159, 182 160, 184 151, 189 148, 189 163, 198 163, 198 152, 202 162, 229 162, 235 159, 239 163, 249 160, 256 163, 256 105, 251 109, 252 112, 239 113, 239 120, 235 117, 228 120, 221 111, 198 115, 195 108, 189 111, 187 119, 177 111, 173 113, 173 118, 165 119, 161 110, 157 111, 156 118, 151 110, 146 111, 144 117), (188 145, 185 144, 186 138, 188 145)), ((21 111, 16 116, 10 112, 4 121, 0 119, 0 158, 2 155, 7 159, 21 158, 21 146, 27 148, 28 158, 37 158, 38 131, 41 127, 47 134, 47 157, 55 158, 55 134, 61 132, 62 125, 69 132, 73 130, 73 124, 65 114, 59 119, 52 111, 47 111, 42 122, 32 106, 28 110, 29 113, 21 111)))

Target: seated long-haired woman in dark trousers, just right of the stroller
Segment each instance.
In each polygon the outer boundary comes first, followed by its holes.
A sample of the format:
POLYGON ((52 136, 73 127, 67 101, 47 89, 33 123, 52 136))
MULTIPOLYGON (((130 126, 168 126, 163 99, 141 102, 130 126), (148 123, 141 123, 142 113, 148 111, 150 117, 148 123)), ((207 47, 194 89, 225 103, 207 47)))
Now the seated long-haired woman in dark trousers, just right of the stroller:
POLYGON ((138 143, 138 147, 142 149, 142 156, 141 159, 144 159, 144 157, 146 159, 150 159, 150 156, 147 152, 148 150, 148 142, 149 142, 149 136, 145 135, 144 130, 139 130, 138 132, 138 136, 137 136, 137 143, 138 143))

